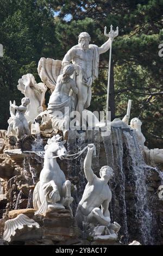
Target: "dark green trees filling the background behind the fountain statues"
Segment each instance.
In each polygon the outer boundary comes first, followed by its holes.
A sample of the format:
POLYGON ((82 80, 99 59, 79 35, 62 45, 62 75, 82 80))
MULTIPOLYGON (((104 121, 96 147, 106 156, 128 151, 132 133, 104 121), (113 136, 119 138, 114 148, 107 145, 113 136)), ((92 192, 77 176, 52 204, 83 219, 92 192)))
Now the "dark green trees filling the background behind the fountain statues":
MULTIPOLYGON (((151 148, 163 147, 162 94, 163 0, 4 0, 0 2, 0 127, 7 129, 9 100, 20 103, 17 81, 32 73, 37 82, 41 57, 62 59, 86 31, 92 44, 101 46, 104 27, 119 27, 113 43, 110 109, 112 118, 139 117, 151 148)), ((104 110, 109 52, 100 57, 99 78, 93 83, 90 109, 104 110)), ((48 99, 48 93, 47 93, 48 99)))

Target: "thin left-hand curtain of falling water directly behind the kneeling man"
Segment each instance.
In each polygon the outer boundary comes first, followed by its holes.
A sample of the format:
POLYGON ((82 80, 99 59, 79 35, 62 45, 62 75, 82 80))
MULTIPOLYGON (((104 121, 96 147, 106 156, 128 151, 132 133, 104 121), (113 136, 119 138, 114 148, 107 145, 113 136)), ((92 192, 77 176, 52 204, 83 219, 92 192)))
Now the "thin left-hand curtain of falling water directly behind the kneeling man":
MULTIPOLYGON (((110 181, 112 191, 112 200, 110 204, 111 221, 115 221, 116 217, 116 202, 121 208, 121 233, 124 235, 123 242, 128 242, 128 227, 126 213, 126 198, 125 198, 125 181, 126 177, 123 170, 123 139, 122 130, 117 127, 112 127, 110 136, 103 137, 105 147, 106 160, 108 166, 114 169, 114 177, 110 181)), ((120 220, 116 220, 120 221, 120 220)))

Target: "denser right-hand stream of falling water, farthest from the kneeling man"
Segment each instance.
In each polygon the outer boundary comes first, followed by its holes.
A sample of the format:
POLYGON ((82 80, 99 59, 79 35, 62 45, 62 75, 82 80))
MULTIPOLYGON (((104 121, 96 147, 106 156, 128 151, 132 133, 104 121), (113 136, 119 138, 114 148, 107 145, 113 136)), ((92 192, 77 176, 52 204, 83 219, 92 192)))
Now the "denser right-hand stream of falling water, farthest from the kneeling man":
POLYGON ((147 199, 146 172, 148 166, 143 160, 135 134, 132 131, 130 131, 130 133, 123 131, 123 137, 128 148, 128 168, 133 173, 133 178, 130 180, 134 181, 133 187, 135 187, 134 197, 136 206, 135 218, 139 225, 140 239, 144 245, 152 245, 152 228, 154 220, 147 199))

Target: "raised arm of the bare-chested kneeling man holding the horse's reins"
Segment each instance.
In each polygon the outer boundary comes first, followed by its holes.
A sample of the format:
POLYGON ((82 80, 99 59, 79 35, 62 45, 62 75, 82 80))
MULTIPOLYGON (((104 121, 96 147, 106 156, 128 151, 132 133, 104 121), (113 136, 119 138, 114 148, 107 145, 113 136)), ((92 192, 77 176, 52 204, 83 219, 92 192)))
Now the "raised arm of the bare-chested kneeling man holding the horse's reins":
POLYGON ((93 173, 93 170, 91 168, 92 164, 92 154, 93 151, 95 150, 95 145, 94 144, 88 144, 87 145, 87 154, 84 160, 84 173, 85 177, 88 182, 92 182, 93 178, 95 178, 95 174, 93 173))

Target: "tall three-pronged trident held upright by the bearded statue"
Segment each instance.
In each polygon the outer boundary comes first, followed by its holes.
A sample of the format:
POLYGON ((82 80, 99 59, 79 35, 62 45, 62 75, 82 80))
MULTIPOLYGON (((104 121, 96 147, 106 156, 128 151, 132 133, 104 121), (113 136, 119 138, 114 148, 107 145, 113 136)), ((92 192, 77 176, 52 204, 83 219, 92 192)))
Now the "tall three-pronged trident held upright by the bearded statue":
POLYGON ((108 70, 108 88, 107 88, 107 99, 106 99, 106 118, 108 120, 107 111, 109 111, 109 89, 110 89, 110 68, 111 68, 111 50, 112 50, 112 41, 118 35, 118 27, 116 31, 112 30, 112 25, 110 26, 109 34, 106 33, 106 27, 104 28, 104 35, 110 38, 110 53, 109 53, 109 70, 108 70))

